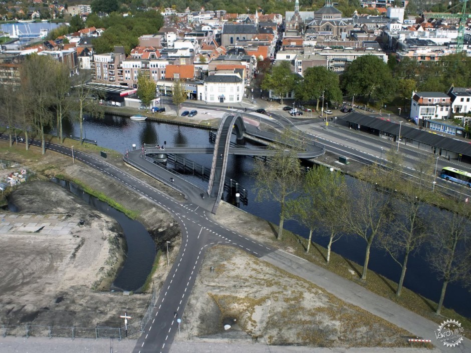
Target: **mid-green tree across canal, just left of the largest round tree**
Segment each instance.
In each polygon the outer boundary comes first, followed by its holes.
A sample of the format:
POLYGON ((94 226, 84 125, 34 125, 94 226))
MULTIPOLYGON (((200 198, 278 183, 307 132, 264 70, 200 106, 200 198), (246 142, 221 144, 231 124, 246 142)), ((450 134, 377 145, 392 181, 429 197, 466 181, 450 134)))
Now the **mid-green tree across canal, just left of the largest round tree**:
POLYGON ((302 101, 316 99, 316 110, 319 110, 319 97, 324 95, 327 101, 341 102, 339 76, 323 66, 306 69, 304 80, 296 85, 296 98, 302 101))

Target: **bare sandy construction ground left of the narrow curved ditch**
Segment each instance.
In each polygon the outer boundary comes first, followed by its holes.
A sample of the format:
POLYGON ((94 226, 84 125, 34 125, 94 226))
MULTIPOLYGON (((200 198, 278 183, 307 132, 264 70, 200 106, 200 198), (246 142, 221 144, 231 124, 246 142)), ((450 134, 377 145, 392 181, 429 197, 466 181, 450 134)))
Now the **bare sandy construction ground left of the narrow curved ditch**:
MULTIPOLYGON (((107 281, 122 257, 113 219, 48 182, 22 185, 13 198, 22 211, 4 212, 0 225, 5 231, 0 233, 1 323, 117 327, 125 310, 143 311, 148 294, 92 290, 107 281), (84 227, 78 226, 80 219, 84 227)), ((23 327, 10 333, 15 331, 25 334, 23 327)))

